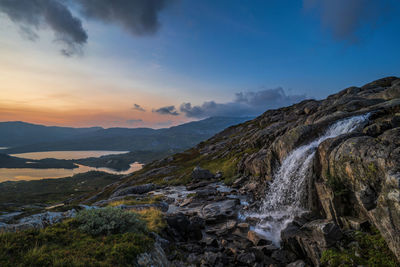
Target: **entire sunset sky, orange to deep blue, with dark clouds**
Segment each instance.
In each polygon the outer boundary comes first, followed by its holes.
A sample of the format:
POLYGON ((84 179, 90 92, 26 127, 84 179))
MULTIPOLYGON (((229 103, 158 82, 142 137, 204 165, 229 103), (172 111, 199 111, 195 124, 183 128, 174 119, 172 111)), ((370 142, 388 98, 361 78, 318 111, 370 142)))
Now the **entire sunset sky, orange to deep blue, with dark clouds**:
POLYGON ((169 127, 400 76, 397 0, 0 0, 0 121, 169 127))

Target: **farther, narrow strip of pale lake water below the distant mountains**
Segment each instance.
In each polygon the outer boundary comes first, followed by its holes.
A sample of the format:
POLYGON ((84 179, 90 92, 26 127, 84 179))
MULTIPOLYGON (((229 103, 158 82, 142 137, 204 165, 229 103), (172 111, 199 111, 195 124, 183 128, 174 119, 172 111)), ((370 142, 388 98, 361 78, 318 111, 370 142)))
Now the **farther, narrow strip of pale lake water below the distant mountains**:
POLYGON ((107 151, 107 150, 87 150, 87 151, 45 151, 45 152, 29 152, 10 154, 10 156, 24 158, 24 159, 84 159, 84 158, 98 158, 106 155, 125 154, 129 151, 107 151))

